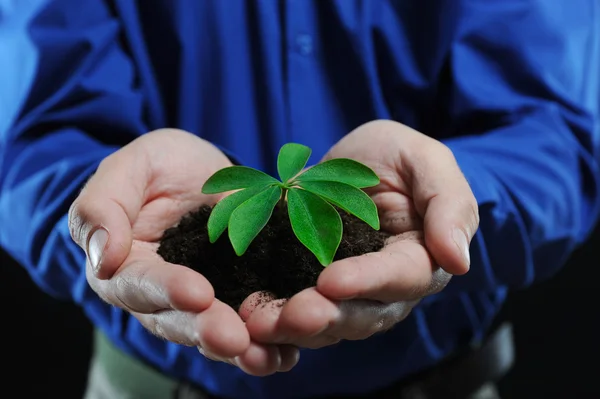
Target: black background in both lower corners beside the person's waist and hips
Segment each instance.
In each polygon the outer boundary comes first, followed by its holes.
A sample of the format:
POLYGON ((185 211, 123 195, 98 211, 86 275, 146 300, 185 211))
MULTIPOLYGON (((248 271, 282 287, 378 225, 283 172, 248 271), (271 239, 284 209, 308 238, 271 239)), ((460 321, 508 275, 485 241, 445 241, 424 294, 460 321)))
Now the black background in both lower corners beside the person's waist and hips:
MULTIPOLYGON (((514 323, 518 358, 502 381, 504 398, 600 398, 598 243, 600 231, 552 279, 512 293, 503 312, 514 323)), ((91 352, 82 313, 39 291, 1 252, 0 295, 2 391, 81 398, 91 352)))

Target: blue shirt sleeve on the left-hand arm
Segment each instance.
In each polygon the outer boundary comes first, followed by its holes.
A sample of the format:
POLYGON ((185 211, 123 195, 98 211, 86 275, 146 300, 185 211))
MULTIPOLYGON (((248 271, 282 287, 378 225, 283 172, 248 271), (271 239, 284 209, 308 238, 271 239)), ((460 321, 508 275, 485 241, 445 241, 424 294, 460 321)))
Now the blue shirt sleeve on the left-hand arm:
POLYGON ((68 208, 100 161, 148 131, 118 22, 102 1, 76 3, 0 0, 0 245, 119 347, 168 368, 184 349, 101 301, 69 234, 68 208))

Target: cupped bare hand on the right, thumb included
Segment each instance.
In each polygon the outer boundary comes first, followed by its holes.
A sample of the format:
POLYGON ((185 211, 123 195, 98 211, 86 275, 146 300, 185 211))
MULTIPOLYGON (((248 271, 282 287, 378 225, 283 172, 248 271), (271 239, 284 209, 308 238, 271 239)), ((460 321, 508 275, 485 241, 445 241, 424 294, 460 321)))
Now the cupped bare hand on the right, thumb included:
POLYGON ((316 287, 287 301, 256 307, 256 298, 246 300, 240 315, 257 342, 320 348, 365 339, 469 270, 477 202, 448 147, 399 123, 375 121, 345 136, 324 160, 331 158, 351 158, 377 173, 381 183, 367 192, 393 237, 380 252, 332 263, 316 287))

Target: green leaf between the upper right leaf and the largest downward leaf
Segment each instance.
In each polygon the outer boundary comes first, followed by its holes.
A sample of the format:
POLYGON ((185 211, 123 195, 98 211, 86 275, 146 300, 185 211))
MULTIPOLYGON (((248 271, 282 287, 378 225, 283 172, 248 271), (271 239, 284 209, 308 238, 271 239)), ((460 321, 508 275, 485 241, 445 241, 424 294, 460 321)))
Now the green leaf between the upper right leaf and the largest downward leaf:
POLYGON ((379 230, 377 206, 371 197, 361 189, 332 181, 307 181, 303 182, 300 187, 323 197, 361 219, 375 230, 379 230))

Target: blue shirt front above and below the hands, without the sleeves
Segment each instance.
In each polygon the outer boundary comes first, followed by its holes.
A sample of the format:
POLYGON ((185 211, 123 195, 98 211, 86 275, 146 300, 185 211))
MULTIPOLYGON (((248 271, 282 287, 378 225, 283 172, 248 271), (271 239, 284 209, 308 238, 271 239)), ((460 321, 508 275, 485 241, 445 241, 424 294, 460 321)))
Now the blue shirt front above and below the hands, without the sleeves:
MULTIPOLYGON (((309 145, 314 163, 374 119, 436 138, 454 134, 444 110, 457 3, 139 0, 116 1, 114 11, 146 94, 148 126, 185 129, 274 172, 284 143, 309 145)), ((197 353, 173 373, 236 398, 367 392, 478 336, 501 297, 426 300, 385 334, 302 351, 289 373, 250 377, 197 353)))

